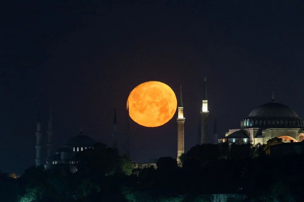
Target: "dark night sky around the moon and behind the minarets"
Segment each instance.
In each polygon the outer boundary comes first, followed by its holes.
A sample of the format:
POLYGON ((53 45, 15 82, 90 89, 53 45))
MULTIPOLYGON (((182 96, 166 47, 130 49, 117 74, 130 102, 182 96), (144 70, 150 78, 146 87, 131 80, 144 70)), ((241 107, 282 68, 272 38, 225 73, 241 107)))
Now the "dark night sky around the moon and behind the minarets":
MULTIPOLYGON (((114 107, 122 148, 126 99, 149 80, 177 96, 182 85, 186 151, 196 144, 205 76, 209 132, 216 114, 219 137, 272 92, 304 117, 303 1, 122 2, 2 3, 2 172, 35 164, 39 100, 44 140, 52 106, 55 148, 81 126, 111 146, 114 107)), ((157 128, 131 122, 134 162, 176 157, 176 116, 157 128)))

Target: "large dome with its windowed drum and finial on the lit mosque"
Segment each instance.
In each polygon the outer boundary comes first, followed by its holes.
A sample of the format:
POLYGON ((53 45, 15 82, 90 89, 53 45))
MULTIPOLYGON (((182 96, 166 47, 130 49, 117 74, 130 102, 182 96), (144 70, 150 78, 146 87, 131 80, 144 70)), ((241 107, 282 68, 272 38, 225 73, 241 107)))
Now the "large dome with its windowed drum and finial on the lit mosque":
POLYGON ((298 114, 290 107, 277 103, 274 98, 270 103, 253 109, 245 119, 241 120, 241 128, 294 128, 299 126, 303 127, 304 121, 298 114))

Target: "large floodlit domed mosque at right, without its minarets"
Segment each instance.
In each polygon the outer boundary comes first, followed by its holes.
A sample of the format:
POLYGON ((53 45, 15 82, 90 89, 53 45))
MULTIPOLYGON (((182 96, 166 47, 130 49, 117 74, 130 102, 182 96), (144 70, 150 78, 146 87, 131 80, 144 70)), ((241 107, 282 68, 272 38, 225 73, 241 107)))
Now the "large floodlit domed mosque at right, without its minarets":
POLYGON ((239 129, 230 129, 221 142, 266 144, 279 137, 283 142, 301 142, 304 139, 304 121, 290 107, 275 101, 253 109, 240 121, 239 129))

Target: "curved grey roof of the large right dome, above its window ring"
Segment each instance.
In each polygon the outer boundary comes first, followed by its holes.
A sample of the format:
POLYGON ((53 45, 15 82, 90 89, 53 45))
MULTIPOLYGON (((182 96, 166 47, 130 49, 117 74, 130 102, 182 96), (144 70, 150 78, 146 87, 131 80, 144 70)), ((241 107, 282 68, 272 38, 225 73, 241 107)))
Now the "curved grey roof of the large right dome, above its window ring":
POLYGON ((270 103, 258 106, 250 112, 249 118, 297 118, 299 117, 297 113, 290 107, 272 101, 270 103))

